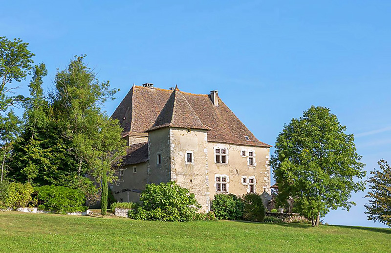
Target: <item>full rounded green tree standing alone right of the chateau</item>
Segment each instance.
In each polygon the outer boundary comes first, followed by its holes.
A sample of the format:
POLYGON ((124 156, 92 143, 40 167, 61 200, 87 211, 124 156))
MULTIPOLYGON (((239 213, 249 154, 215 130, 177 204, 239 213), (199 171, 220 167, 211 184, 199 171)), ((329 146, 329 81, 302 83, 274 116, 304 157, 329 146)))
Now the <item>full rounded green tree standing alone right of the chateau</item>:
POLYGON ((325 107, 312 106, 285 125, 271 158, 278 198, 294 199, 294 208, 319 225, 330 209, 349 210, 351 192, 363 191, 364 164, 354 137, 325 107), (359 179, 357 182, 354 179, 359 179), (316 221, 315 221, 316 217, 316 221))

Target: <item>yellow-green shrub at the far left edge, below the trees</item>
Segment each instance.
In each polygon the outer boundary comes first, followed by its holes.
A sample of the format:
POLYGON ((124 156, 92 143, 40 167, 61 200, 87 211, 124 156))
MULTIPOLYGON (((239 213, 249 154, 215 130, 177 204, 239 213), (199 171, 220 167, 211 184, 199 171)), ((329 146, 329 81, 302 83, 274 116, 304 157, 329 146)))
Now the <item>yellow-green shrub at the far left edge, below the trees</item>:
POLYGON ((0 182, 0 208, 27 207, 33 192, 34 188, 28 183, 0 182))

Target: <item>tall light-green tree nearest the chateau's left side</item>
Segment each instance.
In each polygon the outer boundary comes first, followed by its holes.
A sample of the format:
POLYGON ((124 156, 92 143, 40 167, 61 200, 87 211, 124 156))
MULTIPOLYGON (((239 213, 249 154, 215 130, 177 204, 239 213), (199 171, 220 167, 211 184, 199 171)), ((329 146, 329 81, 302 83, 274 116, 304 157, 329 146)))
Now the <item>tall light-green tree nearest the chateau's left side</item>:
POLYGON ((101 184, 107 206, 107 181, 113 180, 113 165, 125 154, 125 141, 118 120, 102 112, 102 104, 118 91, 109 82, 99 82, 84 64, 84 57, 73 59, 55 78, 51 94, 53 110, 63 137, 70 141, 68 151, 78 161, 77 173, 88 173, 101 184))

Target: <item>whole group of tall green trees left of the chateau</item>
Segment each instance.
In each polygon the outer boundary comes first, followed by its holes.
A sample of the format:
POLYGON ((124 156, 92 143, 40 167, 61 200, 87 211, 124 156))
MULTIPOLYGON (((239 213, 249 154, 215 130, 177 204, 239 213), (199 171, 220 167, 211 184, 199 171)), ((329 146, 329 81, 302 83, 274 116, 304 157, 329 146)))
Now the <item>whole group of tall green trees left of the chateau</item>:
POLYGON ((47 69, 33 57, 21 39, 0 37, 1 181, 78 188, 90 204, 101 188, 107 207, 107 183, 115 180, 113 165, 126 144, 102 106, 118 89, 99 81, 81 55, 57 69, 52 89, 44 91, 47 69), (30 76, 30 95, 18 94, 18 84, 30 76))

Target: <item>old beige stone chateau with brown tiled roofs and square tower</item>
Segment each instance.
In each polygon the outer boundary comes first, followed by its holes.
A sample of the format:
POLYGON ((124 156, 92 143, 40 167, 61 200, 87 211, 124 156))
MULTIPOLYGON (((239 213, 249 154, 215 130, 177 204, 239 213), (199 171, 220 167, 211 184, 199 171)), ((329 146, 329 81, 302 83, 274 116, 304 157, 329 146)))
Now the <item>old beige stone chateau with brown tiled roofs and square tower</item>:
POLYGON ((119 181, 110 186, 117 201, 138 201, 146 184, 169 181, 190 189, 205 210, 217 193, 270 194, 271 146, 247 129, 217 91, 133 85, 112 117, 129 145, 119 181))

